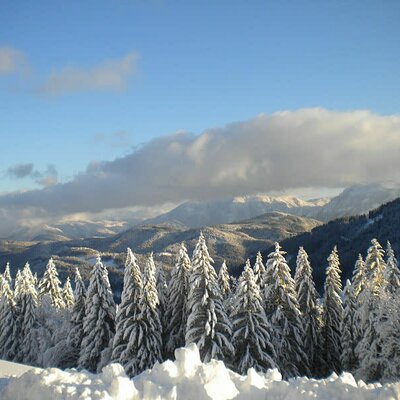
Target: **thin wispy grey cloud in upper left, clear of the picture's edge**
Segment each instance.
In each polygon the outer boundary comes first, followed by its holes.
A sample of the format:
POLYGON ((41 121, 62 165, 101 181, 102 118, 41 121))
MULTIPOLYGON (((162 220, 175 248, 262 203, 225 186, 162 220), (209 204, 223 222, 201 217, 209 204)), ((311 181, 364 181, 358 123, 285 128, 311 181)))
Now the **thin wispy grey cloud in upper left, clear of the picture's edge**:
POLYGON ((137 60, 138 55, 131 52, 91 67, 69 65, 53 71, 39 92, 58 96, 83 91, 124 90, 136 71, 137 60))

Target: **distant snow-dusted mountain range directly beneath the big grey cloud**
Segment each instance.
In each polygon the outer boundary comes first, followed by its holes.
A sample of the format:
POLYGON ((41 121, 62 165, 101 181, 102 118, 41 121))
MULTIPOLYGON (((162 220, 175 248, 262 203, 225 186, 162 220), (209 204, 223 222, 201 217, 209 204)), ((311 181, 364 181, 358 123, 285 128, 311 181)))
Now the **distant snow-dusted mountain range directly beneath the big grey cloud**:
POLYGON ((153 218, 127 212, 114 219, 64 220, 57 224, 19 228, 6 239, 65 241, 109 237, 138 225, 168 224, 185 229, 200 228, 238 222, 276 211, 327 222, 343 216, 366 213, 399 196, 398 186, 371 184, 351 186, 332 199, 302 200, 293 196, 258 194, 213 201, 191 201, 153 218))

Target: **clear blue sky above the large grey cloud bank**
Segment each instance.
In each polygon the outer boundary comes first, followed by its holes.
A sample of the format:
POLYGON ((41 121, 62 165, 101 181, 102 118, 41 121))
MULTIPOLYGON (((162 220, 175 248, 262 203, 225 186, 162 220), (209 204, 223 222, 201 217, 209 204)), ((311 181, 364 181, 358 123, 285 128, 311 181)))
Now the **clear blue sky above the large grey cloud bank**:
POLYGON ((398 1, 3 0, 0 193, 260 113, 398 114, 399 20, 398 1))

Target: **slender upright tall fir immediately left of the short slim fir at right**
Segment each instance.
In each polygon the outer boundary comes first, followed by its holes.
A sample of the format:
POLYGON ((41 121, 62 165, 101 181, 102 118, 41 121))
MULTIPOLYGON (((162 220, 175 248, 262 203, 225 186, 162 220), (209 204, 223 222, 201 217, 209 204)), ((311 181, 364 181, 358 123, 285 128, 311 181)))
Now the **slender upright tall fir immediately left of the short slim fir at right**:
POLYGON ((328 257, 322 311, 322 346, 326 373, 341 371, 342 353, 340 327, 343 320, 342 282, 336 246, 328 257))

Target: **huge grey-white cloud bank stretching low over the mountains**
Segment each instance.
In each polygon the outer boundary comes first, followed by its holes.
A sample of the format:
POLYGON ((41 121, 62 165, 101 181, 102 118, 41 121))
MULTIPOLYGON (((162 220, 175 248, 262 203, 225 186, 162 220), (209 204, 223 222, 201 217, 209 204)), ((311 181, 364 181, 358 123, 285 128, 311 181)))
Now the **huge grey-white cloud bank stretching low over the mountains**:
POLYGON ((63 216, 128 206, 398 180, 400 116, 302 109, 200 135, 176 133, 67 183, 0 196, 9 215, 63 216))

